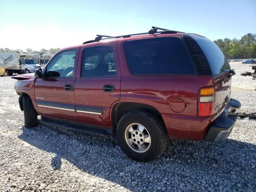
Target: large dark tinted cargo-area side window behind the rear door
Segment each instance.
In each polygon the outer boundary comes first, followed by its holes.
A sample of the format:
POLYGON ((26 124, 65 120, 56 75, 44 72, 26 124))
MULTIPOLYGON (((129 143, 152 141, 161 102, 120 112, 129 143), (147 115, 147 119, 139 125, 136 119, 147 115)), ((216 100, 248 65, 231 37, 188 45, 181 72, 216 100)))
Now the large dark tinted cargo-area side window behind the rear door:
POLYGON ((134 75, 196 75, 181 37, 130 40, 124 43, 134 75))

